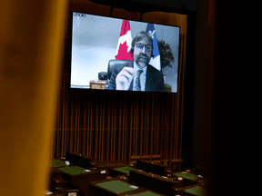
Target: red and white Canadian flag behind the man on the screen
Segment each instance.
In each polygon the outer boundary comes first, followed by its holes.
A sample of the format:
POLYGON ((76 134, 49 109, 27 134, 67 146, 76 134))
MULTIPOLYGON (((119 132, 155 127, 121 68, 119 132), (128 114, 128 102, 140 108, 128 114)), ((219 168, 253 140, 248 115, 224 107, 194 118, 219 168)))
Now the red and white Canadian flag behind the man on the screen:
POLYGON ((123 20, 116 48, 116 59, 134 60, 131 54, 132 36, 128 20, 123 20))

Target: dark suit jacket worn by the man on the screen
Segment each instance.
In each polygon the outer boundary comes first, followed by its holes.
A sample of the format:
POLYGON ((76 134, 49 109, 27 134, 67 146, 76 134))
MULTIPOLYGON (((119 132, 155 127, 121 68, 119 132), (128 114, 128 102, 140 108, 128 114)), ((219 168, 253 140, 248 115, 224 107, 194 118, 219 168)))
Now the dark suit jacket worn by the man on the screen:
MULTIPOLYGON (((108 90, 116 90, 116 75, 127 67, 134 68, 134 62, 127 64, 119 64, 112 72, 111 78, 106 82, 106 88, 108 90)), ((133 81, 130 83, 128 91, 133 91, 133 81)), ((146 92, 165 92, 164 76, 163 73, 157 70, 152 65, 148 64, 146 69, 146 92)))

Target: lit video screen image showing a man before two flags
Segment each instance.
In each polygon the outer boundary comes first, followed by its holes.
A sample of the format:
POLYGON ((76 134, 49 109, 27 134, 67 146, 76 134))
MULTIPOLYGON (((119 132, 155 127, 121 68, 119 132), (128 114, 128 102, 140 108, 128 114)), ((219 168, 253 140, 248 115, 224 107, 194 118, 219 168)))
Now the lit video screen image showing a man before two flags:
POLYGON ((72 17, 71 88, 177 93, 179 27, 72 17))

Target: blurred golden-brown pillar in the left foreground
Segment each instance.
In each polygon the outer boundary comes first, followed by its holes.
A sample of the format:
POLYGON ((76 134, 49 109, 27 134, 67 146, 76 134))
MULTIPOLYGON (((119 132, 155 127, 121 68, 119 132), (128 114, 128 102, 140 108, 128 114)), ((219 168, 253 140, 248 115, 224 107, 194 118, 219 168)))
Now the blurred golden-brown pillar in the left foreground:
POLYGON ((46 190, 67 1, 1 1, 0 189, 46 190))

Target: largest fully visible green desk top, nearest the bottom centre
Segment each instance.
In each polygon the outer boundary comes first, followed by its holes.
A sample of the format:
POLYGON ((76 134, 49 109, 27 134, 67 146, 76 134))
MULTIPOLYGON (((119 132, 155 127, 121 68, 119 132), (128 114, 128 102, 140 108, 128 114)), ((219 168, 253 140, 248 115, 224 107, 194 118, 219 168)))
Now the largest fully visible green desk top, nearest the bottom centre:
POLYGON ((96 186, 106 189, 108 191, 116 192, 117 194, 121 192, 134 191, 138 189, 138 187, 128 182, 117 181, 117 180, 99 182, 96 183, 96 186))

